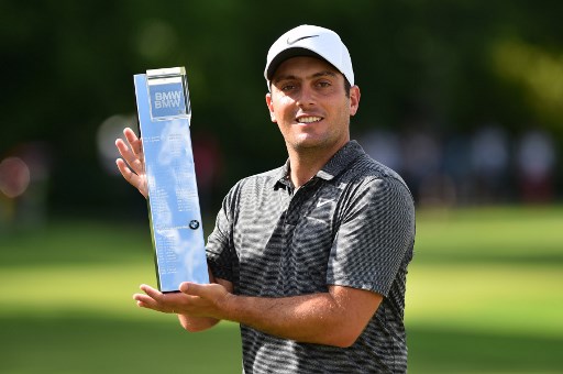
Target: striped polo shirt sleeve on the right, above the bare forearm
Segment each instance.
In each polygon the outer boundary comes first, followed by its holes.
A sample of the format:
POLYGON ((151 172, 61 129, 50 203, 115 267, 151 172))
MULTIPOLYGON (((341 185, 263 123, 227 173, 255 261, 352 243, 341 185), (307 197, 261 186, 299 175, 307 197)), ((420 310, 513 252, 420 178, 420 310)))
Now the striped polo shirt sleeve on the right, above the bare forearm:
POLYGON ((393 177, 364 180, 355 188, 334 238, 327 280, 387 297, 405 257, 412 256, 412 196, 393 177))

